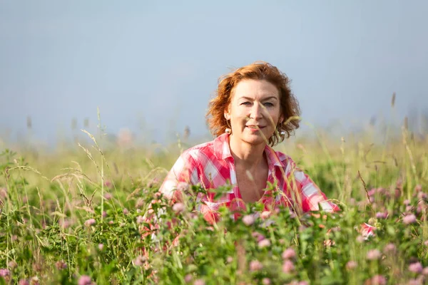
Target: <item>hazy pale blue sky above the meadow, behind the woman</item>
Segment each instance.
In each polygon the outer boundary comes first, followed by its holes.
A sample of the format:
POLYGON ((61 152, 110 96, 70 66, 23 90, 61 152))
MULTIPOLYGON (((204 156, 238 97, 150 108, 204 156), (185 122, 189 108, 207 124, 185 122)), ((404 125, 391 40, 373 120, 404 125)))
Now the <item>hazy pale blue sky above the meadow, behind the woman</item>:
POLYGON ((428 107, 427 1, 0 0, 0 134, 51 141, 96 108, 110 133, 165 140, 205 112, 218 77, 257 60, 292 79, 307 122, 428 107))

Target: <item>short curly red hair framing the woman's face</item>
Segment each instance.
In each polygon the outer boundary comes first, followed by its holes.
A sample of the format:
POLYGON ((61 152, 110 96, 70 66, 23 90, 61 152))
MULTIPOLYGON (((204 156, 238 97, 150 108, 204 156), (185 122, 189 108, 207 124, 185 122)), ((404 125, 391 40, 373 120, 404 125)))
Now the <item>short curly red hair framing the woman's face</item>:
POLYGON ((284 118, 284 123, 277 125, 277 131, 268 139, 270 146, 282 142, 299 128, 300 108, 295 95, 290 89, 290 79, 278 68, 264 61, 256 61, 248 66, 243 66, 235 71, 221 76, 215 96, 208 104, 208 113, 206 115, 208 127, 213 135, 219 136, 225 133, 228 122, 224 113, 230 104, 230 98, 233 88, 240 81, 245 79, 265 80, 277 87, 280 95, 280 112, 284 118), (281 132, 284 134, 281 134, 281 132))

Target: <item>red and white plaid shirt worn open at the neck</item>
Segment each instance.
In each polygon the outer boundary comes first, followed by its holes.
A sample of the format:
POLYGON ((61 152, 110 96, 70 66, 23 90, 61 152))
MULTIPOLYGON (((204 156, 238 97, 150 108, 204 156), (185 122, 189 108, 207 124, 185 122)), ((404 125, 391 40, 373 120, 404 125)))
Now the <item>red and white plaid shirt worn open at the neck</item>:
MULTIPOLYGON (((299 207, 302 212, 319 210, 319 204, 327 212, 340 210, 336 204, 327 201, 327 197, 295 162, 282 152, 275 152, 271 147, 265 147, 265 155, 269 172, 267 182, 275 183, 274 190, 267 189, 260 202, 265 204, 265 210, 272 210, 279 205, 299 207)), ((228 134, 220 135, 215 140, 196 145, 185 150, 168 172, 160 191, 170 199, 181 199, 183 190, 189 185, 201 185, 207 190, 207 195, 198 194, 198 210, 209 222, 216 221, 216 211, 225 205, 232 211, 245 208, 240 189, 236 182, 235 163, 230 153, 228 134), (230 185, 230 191, 220 198, 214 199, 213 190, 230 185)))

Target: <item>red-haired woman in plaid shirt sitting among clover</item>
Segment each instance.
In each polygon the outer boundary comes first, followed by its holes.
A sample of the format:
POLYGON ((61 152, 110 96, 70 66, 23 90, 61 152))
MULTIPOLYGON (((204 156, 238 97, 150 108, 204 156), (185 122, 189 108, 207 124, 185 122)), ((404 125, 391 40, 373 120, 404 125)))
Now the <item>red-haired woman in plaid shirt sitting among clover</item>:
POLYGON ((266 210, 280 205, 297 212, 320 206, 339 210, 291 157, 271 148, 299 127, 299 105, 289 84, 284 73, 265 62, 220 78, 207 114, 217 138, 178 157, 161 186, 163 195, 181 201, 189 185, 200 185, 207 194, 198 193, 198 209, 209 222, 218 220, 221 205, 238 212, 245 203, 258 201, 266 210), (230 190, 214 199, 213 190, 227 185, 230 190))

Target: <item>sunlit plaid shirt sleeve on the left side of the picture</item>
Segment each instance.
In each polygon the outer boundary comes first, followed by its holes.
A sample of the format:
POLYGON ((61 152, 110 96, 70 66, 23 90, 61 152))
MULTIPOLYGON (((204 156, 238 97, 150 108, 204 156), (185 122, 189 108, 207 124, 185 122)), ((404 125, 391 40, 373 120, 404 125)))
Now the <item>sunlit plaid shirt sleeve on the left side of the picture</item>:
POLYGON ((160 192, 168 199, 182 201, 183 191, 198 183, 198 166, 189 150, 183 152, 166 175, 160 192))

